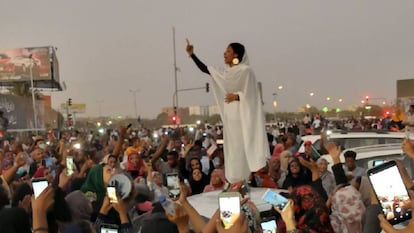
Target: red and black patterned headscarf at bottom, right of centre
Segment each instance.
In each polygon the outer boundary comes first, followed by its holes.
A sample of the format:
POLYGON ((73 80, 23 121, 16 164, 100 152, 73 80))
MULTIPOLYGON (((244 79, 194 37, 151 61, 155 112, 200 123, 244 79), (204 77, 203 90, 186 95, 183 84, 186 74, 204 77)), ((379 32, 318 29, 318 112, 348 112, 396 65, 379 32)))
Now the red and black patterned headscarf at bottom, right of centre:
POLYGON ((299 186, 292 192, 296 228, 299 232, 333 233, 329 210, 311 186, 299 186))

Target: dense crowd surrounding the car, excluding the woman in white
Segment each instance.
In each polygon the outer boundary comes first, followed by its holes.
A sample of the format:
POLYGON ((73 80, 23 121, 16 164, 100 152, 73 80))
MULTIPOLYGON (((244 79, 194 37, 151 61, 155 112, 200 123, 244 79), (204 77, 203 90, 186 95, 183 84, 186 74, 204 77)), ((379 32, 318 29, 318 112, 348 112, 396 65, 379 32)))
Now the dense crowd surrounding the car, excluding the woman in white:
MULTIPOLYGON (((240 182, 230 184, 225 177, 225 144, 216 143, 224 130, 203 129, 194 136, 182 128, 169 129, 160 133, 159 141, 153 141, 149 131, 127 127, 121 127, 118 136, 74 130, 62 132, 60 138, 50 132, 4 140, 0 231, 101 232, 112 226, 118 232, 261 232, 263 216, 251 201, 242 203, 243 214, 235 225, 223 229, 217 223, 219 212, 200 216, 187 200, 204 192, 241 190, 240 182), (67 158, 73 158, 73 174, 67 172, 72 169, 67 158), (180 181, 175 187, 168 182, 171 174, 180 181), (116 175, 125 176, 132 188, 118 192, 112 203, 106 187, 116 175), (49 186, 35 198, 36 179, 47 180, 49 186), (165 212, 165 198, 176 203, 174 214, 165 212)), ((356 166, 355 152, 345 153, 342 164, 338 145, 330 142, 318 148, 332 157, 331 172, 326 160, 311 159, 310 141, 303 142, 302 154, 297 153, 294 134, 277 140, 269 134, 269 142, 271 158, 247 182, 250 187, 287 190, 289 204, 272 212, 278 232, 380 232, 381 227, 394 232, 386 220, 377 218, 382 210, 366 171, 356 166)), ((413 142, 405 140, 403 149, 414 159, 413 142)), ((411 188, 411 179, 405 180, 411 188)), ((128 185, 117 187, 122 186, 128 185)))

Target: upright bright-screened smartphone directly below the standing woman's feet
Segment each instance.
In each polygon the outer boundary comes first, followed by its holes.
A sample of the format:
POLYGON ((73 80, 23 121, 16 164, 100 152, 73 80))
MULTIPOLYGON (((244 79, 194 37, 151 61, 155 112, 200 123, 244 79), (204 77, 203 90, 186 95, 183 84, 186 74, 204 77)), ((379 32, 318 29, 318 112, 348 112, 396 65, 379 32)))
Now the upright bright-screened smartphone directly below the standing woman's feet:
POLYGON ((220 219, 224 229, 229 229, 240 216, 240 193, 224 192, 219 194, 220 219))

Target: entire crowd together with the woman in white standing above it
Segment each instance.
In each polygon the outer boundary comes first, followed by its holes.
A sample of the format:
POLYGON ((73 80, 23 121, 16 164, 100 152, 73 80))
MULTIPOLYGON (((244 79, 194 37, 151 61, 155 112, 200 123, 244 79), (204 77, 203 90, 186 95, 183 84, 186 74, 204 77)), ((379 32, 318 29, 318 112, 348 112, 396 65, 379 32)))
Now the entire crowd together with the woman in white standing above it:
MULTIPOLYGON (((277 219, 278 232, 395 232, 366 171, 356 166, 355 152, 345 153, 342 164, 340 145, 321 143, 317 153, 332 157, 333 172, 326 160, 314 161, 312 142, 297 152, 298 136, 323 133, 320 115, 305 116, 301 128, 277 126, 266 140, 260 90, 242 44, 227 46, 226 69, 207 67, 188 40, 186 51, 212 78, 224 128, 195 136, 180 128, 162 130, 157 142, 147 130, 133 133, 130 127, 102 137, 71 130, 3 140, 0 232, 259 233, 263 213, 249 199, 249 186, 286 190, 287 205, 267 213, 277 219), (243 198, 229 227, 220 221, 224 212, 201 216, 197 203, 187 199, 214 191, 243 198)), ((403 117, 391 121, 402 129, 403 117)), ((403 149, 414 159, 414 142, 406 139, 403 149)), ((401 165, 400 172, 411 189, 401 165)), ((414 222, 405 232, 413 228, 414 222)))

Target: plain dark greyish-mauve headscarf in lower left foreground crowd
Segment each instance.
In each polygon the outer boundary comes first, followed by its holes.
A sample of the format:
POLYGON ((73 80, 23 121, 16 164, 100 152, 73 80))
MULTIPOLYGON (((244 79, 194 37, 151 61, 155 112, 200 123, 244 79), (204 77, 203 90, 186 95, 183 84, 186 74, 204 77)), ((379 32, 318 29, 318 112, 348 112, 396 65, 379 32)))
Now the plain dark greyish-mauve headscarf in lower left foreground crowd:
POLYGON ((93 212, 92 205, 85 194, 79 190, 69 193, 65 197, 74 221, 90 220, 93 212))

